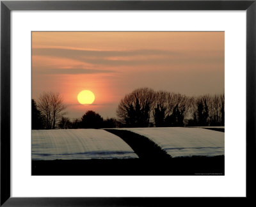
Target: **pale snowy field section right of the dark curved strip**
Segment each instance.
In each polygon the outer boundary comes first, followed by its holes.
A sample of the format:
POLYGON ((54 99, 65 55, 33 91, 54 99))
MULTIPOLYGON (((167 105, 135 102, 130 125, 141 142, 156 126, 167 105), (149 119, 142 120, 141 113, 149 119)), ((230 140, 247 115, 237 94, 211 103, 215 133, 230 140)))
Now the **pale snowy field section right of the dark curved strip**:
POLYGON ((223 132, 184 127, 125 128, 125 130, 148 137, 172 157, 224 155, 223 132))

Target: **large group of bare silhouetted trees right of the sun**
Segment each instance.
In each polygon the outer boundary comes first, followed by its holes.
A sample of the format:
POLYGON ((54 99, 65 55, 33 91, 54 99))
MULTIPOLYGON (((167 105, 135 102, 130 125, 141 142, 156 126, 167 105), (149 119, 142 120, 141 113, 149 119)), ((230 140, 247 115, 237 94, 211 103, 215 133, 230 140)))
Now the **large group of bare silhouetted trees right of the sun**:
POLYGON ((224 95, 188 97, 179 93, 135 89, 120 100, 122 127, 224 126, 224 95))

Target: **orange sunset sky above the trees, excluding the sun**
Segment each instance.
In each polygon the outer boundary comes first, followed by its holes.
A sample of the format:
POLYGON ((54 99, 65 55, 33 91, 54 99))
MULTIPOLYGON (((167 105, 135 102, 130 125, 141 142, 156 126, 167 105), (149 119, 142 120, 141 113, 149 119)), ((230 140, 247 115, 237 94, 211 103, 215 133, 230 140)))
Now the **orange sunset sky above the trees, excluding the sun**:
POLYGON ((59 92, 68 118, 116 118, 136 88, 224 93, 224 63, 224 32, 33 32, 32 98, 59 92), (92 105, 77 102, 82 90, 94 93, 92 105))

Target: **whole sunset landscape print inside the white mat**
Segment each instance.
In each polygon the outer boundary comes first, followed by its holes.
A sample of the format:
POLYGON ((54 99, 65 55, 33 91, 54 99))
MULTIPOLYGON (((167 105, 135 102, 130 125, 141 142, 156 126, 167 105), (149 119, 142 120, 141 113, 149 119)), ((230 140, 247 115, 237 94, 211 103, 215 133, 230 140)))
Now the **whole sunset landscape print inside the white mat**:
POLYGON ((33 31, 32 175, 224 175, 225 33, 33 31))

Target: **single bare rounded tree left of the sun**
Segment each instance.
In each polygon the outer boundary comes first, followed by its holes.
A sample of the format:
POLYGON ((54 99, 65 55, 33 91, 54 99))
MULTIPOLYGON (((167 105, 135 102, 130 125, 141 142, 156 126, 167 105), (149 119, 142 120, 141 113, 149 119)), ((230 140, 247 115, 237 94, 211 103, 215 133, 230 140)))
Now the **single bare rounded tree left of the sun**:
POLYGON ((45 117, 47 128, 55 128, 58 120, 65 114, 66 106, 59 93, 45 92, 38 98, 38 109, 45 117))

